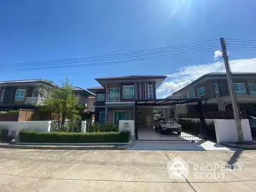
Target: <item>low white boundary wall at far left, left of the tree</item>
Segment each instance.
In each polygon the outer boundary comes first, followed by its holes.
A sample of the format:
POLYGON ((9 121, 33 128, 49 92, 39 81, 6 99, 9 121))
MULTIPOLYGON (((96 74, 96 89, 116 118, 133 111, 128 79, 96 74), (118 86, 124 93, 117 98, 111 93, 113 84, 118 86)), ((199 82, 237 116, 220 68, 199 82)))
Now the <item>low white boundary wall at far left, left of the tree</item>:
POLYGON ((51 131, 51 121, 32 121, 32 122, 0 122, 0 127, 8 129, 11 135, 15 131, 15 136, 19 134, 20 129, 33 129, 40 132, 51 131))

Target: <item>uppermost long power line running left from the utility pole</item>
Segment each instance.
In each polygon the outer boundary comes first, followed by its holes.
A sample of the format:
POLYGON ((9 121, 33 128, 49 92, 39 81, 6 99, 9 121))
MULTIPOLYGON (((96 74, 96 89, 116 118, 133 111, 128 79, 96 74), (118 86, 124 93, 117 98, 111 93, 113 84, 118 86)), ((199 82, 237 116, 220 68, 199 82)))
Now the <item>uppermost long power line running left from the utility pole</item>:
MULTIPOLYGON (((170 48, 175 48, 175 49, 188 49, 189 47, 192 48, 196 48, 200 45, 205 45, 205 44, 216 44, 217 42, 214 42, 217 40, 207 40, 204 42, 196 42, 196 43, 191 43, 191 44, 183 44, 183 45, 175 45, 175 46, 170 46, 170 47, 163 47, 163 48, 159 48, 159 49, 148 49, 148 50, 144 50, 144 51, 136 51, 136 52, 124 52, 124 53, 120 53, 120 54, 111 54, 111 55, 103 55, 103 56, 90 56, 90 57, 84 57, 84 58, 71 58, 71 59, 63 59, 63 60, 48 60, 48 61, 29 61, 29 62, 19 62, 19 63, 5 63, 1 66, 4 65, 17 65, 17 64, 29 64, 29 63, 51 63, 51 62, 63 62, 63 61, 77 61, 77 60, 90 60, 90 59, 96 59, 96 60, 102 60, 102 59, 109 59, 109 58, 115 58, 116 56, 126 56, 126 55, 134 55, 134 54, 142 54, 143 52, 146 53, 154 53, 154 52, 159 52, 159 51, 164 51, 165 49, 170 49, 170 48)), ((198 47, 200 48, 200 47, 198 47)), ((175 50, 174 49, 174 50, 175 50)), ((172 49, 171 49, 172 50, 172 49)))

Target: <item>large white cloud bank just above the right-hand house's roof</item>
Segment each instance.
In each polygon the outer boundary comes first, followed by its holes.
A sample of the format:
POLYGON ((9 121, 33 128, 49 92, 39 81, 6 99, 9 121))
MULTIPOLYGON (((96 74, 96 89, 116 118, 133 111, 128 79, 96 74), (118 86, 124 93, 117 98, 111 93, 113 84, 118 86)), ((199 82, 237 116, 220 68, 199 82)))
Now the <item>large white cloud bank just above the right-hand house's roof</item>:
MULTIPOLYGON (((222 61, 218 61, 212 65, 191 65, 179 68, 178 72, 167 75, 167 81, 157 89, 157 96, 161 98, 168 97, 173 92, 195 81, 195 79, 204 76, 204 74, 217 72, 221 65, 222 61)), ((256 72, 256 58, 231 60, 230 67, 232 72, 256 72)), ((225 67, 222 67, 219 72, 225 72, 225 67)))

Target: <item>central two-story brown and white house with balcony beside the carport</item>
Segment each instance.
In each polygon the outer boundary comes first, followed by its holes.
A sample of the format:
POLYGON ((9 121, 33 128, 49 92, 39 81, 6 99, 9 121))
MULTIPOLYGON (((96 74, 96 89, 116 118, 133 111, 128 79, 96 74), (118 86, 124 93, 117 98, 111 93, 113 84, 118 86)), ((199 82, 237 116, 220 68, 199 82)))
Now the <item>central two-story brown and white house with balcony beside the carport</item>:
MULTIPOLYGON (((156 89, 166 76, 121 76, 95 79, 101 86, 88 88, 95 93, 95 122, 104 124, 134 120, 135 100, 156 99, 156 89), (108 115, 106 115, 108 114, 108 115)), ((136 122, 152 122, 153 108, 140 108, 136 122)))

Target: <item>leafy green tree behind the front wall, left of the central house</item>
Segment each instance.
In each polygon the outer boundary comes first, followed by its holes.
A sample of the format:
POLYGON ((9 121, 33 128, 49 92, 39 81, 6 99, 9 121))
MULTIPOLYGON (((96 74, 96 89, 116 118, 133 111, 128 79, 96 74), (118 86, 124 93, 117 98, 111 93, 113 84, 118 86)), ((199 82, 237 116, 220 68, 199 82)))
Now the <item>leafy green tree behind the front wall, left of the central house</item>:
POLYGON ((79 113, 84 109, 72 92, 72 86, 68 79, 66 78, 61 84, 61 88, 52 88, 51 97, 46 97, 40 104, 42 111, 56 114, 58 129, 65 127, 66 118, 70 122, 75 122, 79 118, 79 113))

